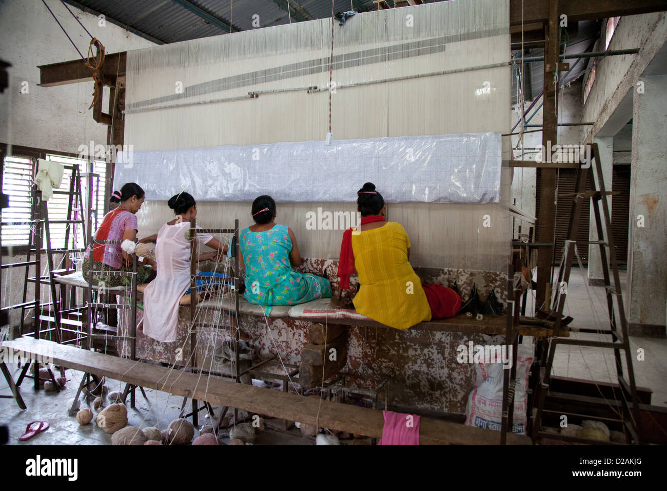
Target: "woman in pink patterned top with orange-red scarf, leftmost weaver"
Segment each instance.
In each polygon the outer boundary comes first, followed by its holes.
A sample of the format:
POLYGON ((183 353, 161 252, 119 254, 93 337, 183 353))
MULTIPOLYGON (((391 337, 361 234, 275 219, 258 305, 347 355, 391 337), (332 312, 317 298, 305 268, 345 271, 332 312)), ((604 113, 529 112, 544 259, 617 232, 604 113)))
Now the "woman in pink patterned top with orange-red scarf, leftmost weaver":
MULTIPOLYGON (((143 189, 139 184, 128 182, 120 191, 111 194, 110 201, 119 203, 115 210, 105 214, 102 224, 95 232, 95 240, 134 240, 137 236, 137 211, 143 203, 143 189)), ((155 235, 142 238, 139 242, 155 242, 155 235)), ((132 259, 121 244, 93 244, 93 257, 90 257, 90 244, 83 255, 83 278, 88 280, 88 273, 93 271, 132 271, 132 259)), ((148 283, 155 278, 155 261, 144 259, 137 265, 137 285, 148 283)), ((130 284, 130 277, 119 275, 93 274, 92 285, 103 283, 106 287, 121 287, 130 284)))

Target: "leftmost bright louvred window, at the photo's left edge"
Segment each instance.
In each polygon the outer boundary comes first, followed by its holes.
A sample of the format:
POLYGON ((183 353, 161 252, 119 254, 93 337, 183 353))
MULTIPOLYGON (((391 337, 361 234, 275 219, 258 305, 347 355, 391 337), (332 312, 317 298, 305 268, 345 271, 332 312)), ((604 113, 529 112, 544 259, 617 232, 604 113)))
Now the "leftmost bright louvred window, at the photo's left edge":
POLYGON ((8 156, 4 159, 2 192, 9 195, 9 208, 3 208, 1 219, 17 224, 3 225, 0 237, 3 247, 29 244, 33 168, 31 158, 8 156))

